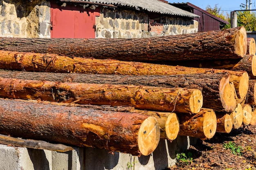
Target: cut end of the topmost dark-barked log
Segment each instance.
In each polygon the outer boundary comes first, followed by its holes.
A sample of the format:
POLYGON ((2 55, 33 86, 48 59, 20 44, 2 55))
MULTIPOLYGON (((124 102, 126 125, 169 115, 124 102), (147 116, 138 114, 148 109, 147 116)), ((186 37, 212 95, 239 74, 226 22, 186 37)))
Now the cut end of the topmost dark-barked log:
POLYGON ((247 33, 245 27, 241 27, 235 38, 235 53, 244 57, 247 53, 247 33))

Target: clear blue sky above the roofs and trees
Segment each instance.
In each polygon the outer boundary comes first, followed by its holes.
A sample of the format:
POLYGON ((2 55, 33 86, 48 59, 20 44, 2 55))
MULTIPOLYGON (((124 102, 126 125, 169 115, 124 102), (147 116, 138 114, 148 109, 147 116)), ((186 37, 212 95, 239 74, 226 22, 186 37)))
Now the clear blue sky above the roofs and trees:
MULTIPOLYGON (((254 6, 255 1, 256 0, 252 0, 252 9, 256 9, 256 6, 254 6)), ((205 9, 207 5, 214 7, 216 4, 218 4, 218 7, 220 7, 221 10, 224 11, 224 13, 226 12, 230 13, 230 11, 240 10, 241 9, 240 4, 241 3, 246 4, 246 0, 183 0, 183 1, 168 0, 168 2, 169 3, 190 2, 191 4, 194 4, 195 6, 200 7, 202 9, 205 9)))

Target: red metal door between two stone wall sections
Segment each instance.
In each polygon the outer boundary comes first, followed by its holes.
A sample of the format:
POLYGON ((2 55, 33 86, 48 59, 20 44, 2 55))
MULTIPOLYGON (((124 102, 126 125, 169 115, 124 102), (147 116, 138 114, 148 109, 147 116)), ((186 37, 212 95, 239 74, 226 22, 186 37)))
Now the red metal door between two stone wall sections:
POLYGON ((83 9, 80 5, 61 7, 51 2, 52 38, 95 38, 95 17, 99 8, 83 9))

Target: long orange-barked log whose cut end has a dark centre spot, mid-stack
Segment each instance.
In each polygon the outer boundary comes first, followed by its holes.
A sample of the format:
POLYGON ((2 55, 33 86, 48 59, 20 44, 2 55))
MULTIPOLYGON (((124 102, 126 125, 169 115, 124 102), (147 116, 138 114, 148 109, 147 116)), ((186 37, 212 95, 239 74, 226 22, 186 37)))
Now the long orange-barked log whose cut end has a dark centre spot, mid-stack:
POLYGON ((0 97, 41 99, 50 102, 134 106, 142 110, 198 113, 202 93, 198 89, 150 86, 61 83, 0 78, 0 97))

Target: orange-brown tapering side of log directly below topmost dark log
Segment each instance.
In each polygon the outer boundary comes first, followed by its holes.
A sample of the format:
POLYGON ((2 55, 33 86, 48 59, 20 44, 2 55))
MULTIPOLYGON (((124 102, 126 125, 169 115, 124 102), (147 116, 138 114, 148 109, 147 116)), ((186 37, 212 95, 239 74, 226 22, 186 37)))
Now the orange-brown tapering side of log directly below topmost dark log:
MULTIPOLYGON (((227 70, 168 66, 143 62, 97 60, 81 57, 66 57, 42 53, 18 53, 0 51, 0 68, 31 72, 116 74, 116 75, 175 75, 224 73, 227 70)), ((237 71, 228 71, 237 74, 237 71)))

